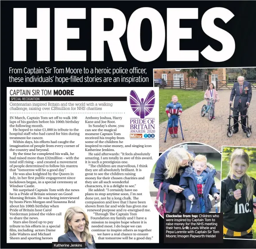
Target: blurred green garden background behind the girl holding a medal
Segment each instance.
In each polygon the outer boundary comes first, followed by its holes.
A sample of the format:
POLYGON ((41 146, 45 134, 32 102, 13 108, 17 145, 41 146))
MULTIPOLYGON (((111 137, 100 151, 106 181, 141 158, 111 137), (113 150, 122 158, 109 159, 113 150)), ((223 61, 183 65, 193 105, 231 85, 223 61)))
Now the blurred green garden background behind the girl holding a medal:
MULTIPOLYGON (((235 149, 244 150, 250 157, 250 167, 247 170, 247 174, 250 177, 256 179, 256 147, 222 147, 222 170, 221 170, 221 180, 227 177, 229 172, 229 158, 231 153, 235 149)), ((256 197, 256 196, 254 196, 256 197)), ((256 239, 256 219, 254 220, 252 226, 253 238, 256 239)))

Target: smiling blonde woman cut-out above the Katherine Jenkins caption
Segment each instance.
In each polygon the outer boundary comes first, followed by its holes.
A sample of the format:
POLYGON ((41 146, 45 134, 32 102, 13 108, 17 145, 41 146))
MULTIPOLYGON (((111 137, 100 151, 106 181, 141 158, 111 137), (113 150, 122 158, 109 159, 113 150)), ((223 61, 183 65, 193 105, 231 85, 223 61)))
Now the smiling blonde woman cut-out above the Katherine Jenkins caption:
POLYGON ((85 248, 96 248, 89 232, 89 219, 80 207, 70 207, 64 216, 64 233, 58 242, 85 242, 85 248))

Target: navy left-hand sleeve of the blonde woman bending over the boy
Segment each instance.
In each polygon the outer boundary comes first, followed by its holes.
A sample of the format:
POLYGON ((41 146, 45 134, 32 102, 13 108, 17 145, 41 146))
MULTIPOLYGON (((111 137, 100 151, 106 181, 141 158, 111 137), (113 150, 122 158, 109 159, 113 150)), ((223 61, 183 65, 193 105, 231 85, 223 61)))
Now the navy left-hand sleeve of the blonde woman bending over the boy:
POLYGON ((154 186, 159 189, 160 183, 163 182, 161 189, 166 192, 170 193, 173 190, 169 190, 169 185, 170 183, 164 181, 164 173, 165 173, 165 158, 159 158, 158 161, 156 162, 156 167, 155 167, 155 177, 154 177, 154 186))

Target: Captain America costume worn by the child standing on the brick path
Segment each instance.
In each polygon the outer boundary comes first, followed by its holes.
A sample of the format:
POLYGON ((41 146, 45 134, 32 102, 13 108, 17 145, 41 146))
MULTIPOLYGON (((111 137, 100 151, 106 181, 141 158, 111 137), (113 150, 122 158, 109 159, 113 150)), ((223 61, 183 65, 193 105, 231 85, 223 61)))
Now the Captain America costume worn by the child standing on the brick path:
POLYGON ((171 117, 169 118, 168 129, 170 134, 178 133, 178 113, 182 113, 182 105, 179 102, 169 103, 165 109, 166 113, 170 113, 171 117))

